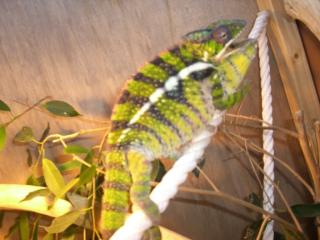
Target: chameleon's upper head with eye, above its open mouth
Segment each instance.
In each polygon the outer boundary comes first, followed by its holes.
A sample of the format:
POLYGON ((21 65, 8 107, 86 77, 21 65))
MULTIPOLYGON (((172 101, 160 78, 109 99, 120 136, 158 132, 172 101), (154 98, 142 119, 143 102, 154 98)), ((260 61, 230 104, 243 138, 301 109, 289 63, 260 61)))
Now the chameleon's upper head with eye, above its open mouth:
POLYGON ((183 40, 196 57, 209 60, 237 39, 245 25, 244 20, 219 20, 186 34, 183 40))

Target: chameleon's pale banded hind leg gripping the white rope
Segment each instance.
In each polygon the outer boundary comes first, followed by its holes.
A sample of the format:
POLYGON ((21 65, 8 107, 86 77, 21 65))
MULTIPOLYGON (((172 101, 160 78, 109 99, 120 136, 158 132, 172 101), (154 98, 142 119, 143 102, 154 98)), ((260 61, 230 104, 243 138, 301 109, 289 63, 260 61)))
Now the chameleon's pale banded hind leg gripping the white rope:
POLYGON ((143 153, 136 150, 128 151, 127 160, 132 178, 130 198, 133 207, 141 208, 154 224, 158 224, 159 209, 149 197, 152 164, 143 153))

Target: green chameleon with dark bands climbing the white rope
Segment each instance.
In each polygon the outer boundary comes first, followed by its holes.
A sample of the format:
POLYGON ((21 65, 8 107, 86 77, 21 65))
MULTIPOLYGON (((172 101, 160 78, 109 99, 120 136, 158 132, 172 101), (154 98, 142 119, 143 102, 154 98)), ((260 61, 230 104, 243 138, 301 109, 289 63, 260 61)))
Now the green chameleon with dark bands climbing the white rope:
POLYGON ((244 27, 243 20, 219 20, 190 32, 126 82, 107 137, 100 216, 104 239, 123 225, 130 202, 159 223, 159 210, 149 198, 152 161, 177 159, 179 150, 208 127, 215 109, 241 100, 255 41, 244 41, 221 60, 215 57, 244 27))

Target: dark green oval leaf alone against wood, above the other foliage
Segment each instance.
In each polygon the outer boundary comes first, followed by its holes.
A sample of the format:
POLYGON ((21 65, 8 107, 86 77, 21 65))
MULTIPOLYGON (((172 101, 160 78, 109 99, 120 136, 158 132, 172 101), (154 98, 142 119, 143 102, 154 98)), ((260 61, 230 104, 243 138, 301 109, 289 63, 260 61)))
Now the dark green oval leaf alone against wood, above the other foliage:
POLYGON ((42 105, 50 113, 63 117, 76 117, 80 114, 69 103, 53 100, 42 105))

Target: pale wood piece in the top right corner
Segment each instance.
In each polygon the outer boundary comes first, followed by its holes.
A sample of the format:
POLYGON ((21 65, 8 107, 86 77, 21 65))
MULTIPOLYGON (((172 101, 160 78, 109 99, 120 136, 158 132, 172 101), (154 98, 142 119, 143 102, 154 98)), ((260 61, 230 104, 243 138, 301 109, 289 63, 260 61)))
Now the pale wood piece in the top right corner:
POLYGON ((306 24, 320 40, 320 1, 284 0, 287 13, 306 24))

